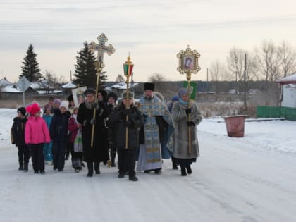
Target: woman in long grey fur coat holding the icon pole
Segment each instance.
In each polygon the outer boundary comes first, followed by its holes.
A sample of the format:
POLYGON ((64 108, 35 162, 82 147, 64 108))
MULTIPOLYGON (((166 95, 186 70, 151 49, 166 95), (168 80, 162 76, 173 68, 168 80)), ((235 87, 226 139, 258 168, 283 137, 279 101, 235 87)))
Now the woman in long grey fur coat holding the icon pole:
POLYGON ((199 157, 196 126, 202 121, 201 113, 194 101, 190 101, 186 89, 178 91, 179 101, 175 102, 172 109, 172 118, 175 122, 173 157, 181 167, 181 175, 192 173, 190 165, 199 157), (190 121, 188 116, 190 115, 190 121), (191 152, 189 150, 188 128, 190 128, 191 152))

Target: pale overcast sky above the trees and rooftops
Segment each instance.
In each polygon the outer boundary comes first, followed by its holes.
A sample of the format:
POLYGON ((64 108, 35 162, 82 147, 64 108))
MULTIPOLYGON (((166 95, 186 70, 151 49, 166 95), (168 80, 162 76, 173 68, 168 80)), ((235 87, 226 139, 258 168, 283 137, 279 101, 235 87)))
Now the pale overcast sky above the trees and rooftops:
POLYGON ((116 49, 104 57, 108 80, 123 75, 129 52, 135 80, 186 80, 176 54, 187 44, 201 54, 192 80, 206 80, 206 67, 226 62, 231 47, 253 50, 264 39, 296 47, 295 8, 295 0, 0 0, 0 78, 18 80, 32 43, 42 73, 68 81, 83 42, 105 33, 116 49))

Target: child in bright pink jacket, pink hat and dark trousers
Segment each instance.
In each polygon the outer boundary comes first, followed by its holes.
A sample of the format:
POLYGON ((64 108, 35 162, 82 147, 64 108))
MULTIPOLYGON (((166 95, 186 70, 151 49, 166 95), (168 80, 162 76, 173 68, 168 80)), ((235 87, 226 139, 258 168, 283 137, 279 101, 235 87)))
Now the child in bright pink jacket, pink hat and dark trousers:
POLYGON ((34 173, 44 174, 44 143, 50 142, 47 123, 40 116, 40 106, 34 103, 26 108, 30 113, 27 124, 25 125, 25 143, 31 149, 34 173))

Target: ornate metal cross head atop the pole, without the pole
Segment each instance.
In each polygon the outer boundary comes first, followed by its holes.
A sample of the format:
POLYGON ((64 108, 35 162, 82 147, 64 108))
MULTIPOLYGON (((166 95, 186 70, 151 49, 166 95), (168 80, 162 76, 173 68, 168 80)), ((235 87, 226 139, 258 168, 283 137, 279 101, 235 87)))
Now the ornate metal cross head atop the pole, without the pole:
POLYGON ((108 56, 111 56, 111 54, 113 54, 115 52, 115 49, 113 48, 113 46, 111 44, 109 44, 108 46, 106 46, 106 42, 108 42, 108 38, 106 37, 106 35, 104 33, 102 33, 101 35, 99 35, 97 37, 99 44, 96 44, 95 42, 91 42, 88 45, 88 48, 91 51, 97 51, 98 52, 98 56, 97 56, 97 68, 99 68, 100 70, 102 68, 105 67, 104 64, 104 53, 106 52, 108 54, 108 56))

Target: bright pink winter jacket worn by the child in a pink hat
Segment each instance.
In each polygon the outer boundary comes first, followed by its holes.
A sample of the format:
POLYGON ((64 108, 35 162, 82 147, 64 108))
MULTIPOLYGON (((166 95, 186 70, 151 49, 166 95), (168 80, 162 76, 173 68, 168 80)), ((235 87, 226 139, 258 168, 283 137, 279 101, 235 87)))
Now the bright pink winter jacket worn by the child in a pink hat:
POLYGON ((44 118, 41 118, 40 116, 29 117, 25 125, 25 143, 40 144, 49 142, 49 130, 44 118))

